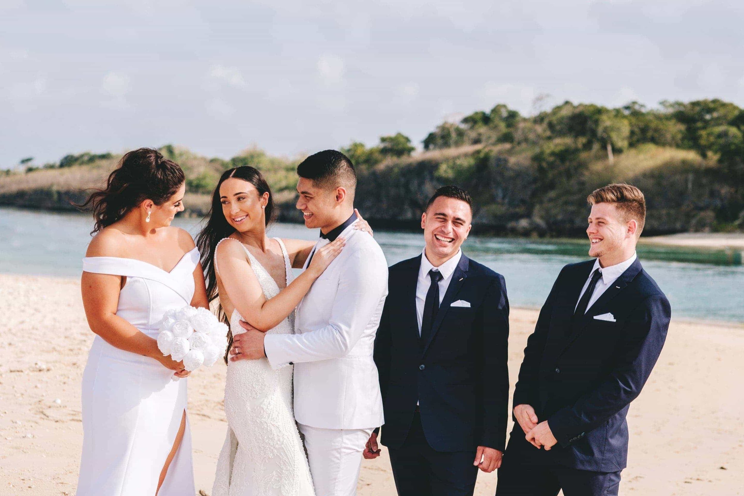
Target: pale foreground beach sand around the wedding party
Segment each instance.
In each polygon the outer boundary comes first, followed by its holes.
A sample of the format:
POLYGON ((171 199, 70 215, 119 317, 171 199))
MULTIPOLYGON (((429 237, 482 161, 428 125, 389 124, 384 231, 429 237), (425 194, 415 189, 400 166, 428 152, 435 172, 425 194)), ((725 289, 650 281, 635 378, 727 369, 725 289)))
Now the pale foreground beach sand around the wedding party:
MULTIPOLYGON (((82 445, 80 379, 93 339, 79 281, 0 275, 0 495, 74 495, 82 445)), ((510 375, 537 312, 513 309, 510 375)), ((673 321, 629 413, 622 495, 744 495, 744 326, 673 321)), ((225 366, 189 379, 197 489, 211 492, 225 436, 225 366)), ((493 495, 496 472, 476 495, 493 495)), ((383 456, 364 462, 359 495, 395 495, 383 456)))

